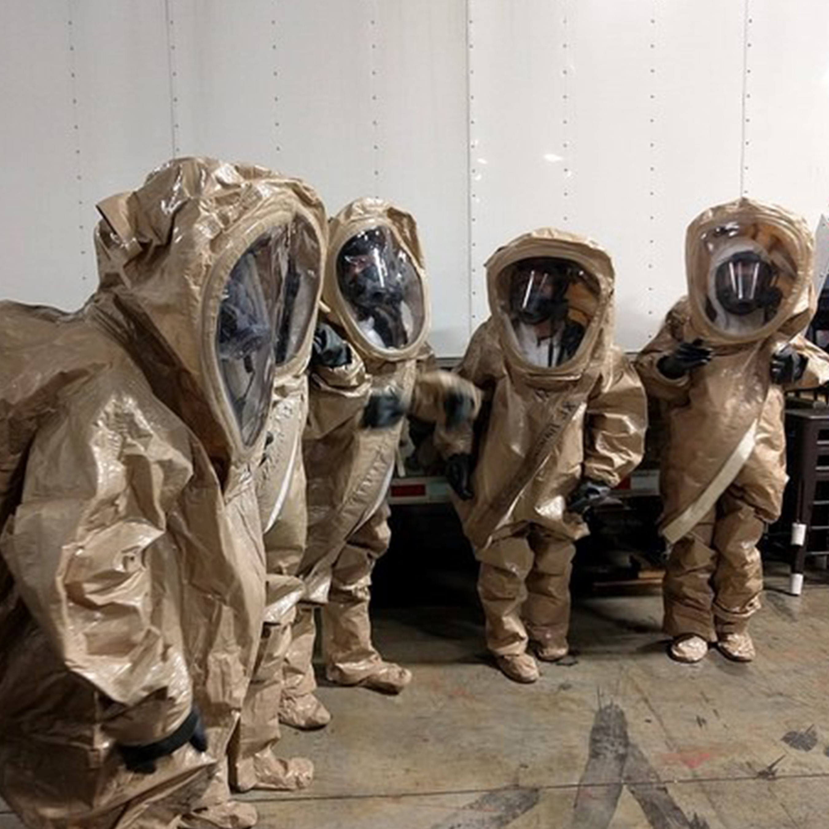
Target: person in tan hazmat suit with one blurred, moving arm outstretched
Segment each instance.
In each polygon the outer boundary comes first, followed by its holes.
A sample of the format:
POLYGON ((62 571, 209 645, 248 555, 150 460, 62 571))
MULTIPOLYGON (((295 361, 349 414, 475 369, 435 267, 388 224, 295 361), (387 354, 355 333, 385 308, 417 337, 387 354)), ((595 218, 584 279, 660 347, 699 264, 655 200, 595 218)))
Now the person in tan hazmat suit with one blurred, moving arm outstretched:
POLYGON ((329 225, 323 285, 325 342, 310 377, 303 454, 308 473, 308 545, 300 574, 305 601, 286 662, 280 717, 298 728, 326 725, 313 691, 314 607, 322 605, 327 678, 396 694, 404 667, 371 642, 371 572, 390 541, 386 492, 405 412, 455 425, 472 419, 473 385, 434 368, 425 346, 429 293, 414 218, 362 198, 329 225), (366 428, 368 427, 368 428, 366 428))

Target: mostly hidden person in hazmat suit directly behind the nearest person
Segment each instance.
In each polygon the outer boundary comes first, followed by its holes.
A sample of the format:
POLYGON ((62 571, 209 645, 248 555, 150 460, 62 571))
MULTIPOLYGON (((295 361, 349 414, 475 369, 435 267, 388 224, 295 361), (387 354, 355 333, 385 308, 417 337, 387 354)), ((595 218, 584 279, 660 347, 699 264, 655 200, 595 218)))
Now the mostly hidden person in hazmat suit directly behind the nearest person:
MULTIPOLYGON (((325 267, 320 240, 327 238, 327 222, 318 201, 308 205, 307 212, 308 225, 291 240, 285 293, 293 303, 286 310, 315 321, 325 267)), ((281 735, 284 657, 303 595, 303 582, 297 576, 308 526, 302 436, 308 419, 308 362, 318 352, 319 336, 308 319, 294 320, 285 313, 274 340, 276 362, 284 369, 272 391, 264 453, 255 470, 264 532, 266 606, 254 676, 230 744, 230 782, 242 792, 296 790, 313 779, 309 759, 284 759, 274 751, 281 735)))

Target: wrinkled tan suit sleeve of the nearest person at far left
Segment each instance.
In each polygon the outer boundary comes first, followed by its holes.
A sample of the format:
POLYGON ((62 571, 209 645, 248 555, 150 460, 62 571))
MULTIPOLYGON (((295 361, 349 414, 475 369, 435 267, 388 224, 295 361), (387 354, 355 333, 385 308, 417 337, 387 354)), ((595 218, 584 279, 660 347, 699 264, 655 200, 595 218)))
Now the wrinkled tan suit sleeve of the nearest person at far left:
POLYGON ((167 516, 192 476, 191 435, 117 380, 85 387, 36 434, 2 555, 67 670, 118 704, 106 730, 140 744, 172 734, 192 705, 165 592, 176 585, 153 580, 155 556, 169 554, 158 545, 167 516))

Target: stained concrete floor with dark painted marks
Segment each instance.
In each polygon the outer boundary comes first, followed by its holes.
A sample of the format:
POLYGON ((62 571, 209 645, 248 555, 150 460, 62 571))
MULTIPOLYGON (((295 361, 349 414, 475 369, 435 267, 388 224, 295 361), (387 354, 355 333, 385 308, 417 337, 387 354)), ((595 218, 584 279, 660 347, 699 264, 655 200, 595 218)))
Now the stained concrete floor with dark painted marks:
POLYGON ((476 608, 381 609, 412 686, 322 687, 332 724, 280 744, 312 788, 246 799, 274 829, 827 829, 829 585, 785 584, 768 576, 748 666, 671 662, 658 593, 579 597, 576 664, 533 686, 488 662, 476 608))

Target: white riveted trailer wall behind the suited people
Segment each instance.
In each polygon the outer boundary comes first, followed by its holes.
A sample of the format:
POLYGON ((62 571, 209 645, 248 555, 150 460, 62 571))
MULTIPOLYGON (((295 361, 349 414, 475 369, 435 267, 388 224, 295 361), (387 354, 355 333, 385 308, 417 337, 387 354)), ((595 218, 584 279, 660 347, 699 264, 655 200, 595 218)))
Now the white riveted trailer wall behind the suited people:
POLYGON ((539 225, 607 247, 635 349, 705 206, 826 211, 827 42, 824 0, 5 0, 0 293, 77 307, 95 202, 210 154, 410 209, 440 354, 539 225))

